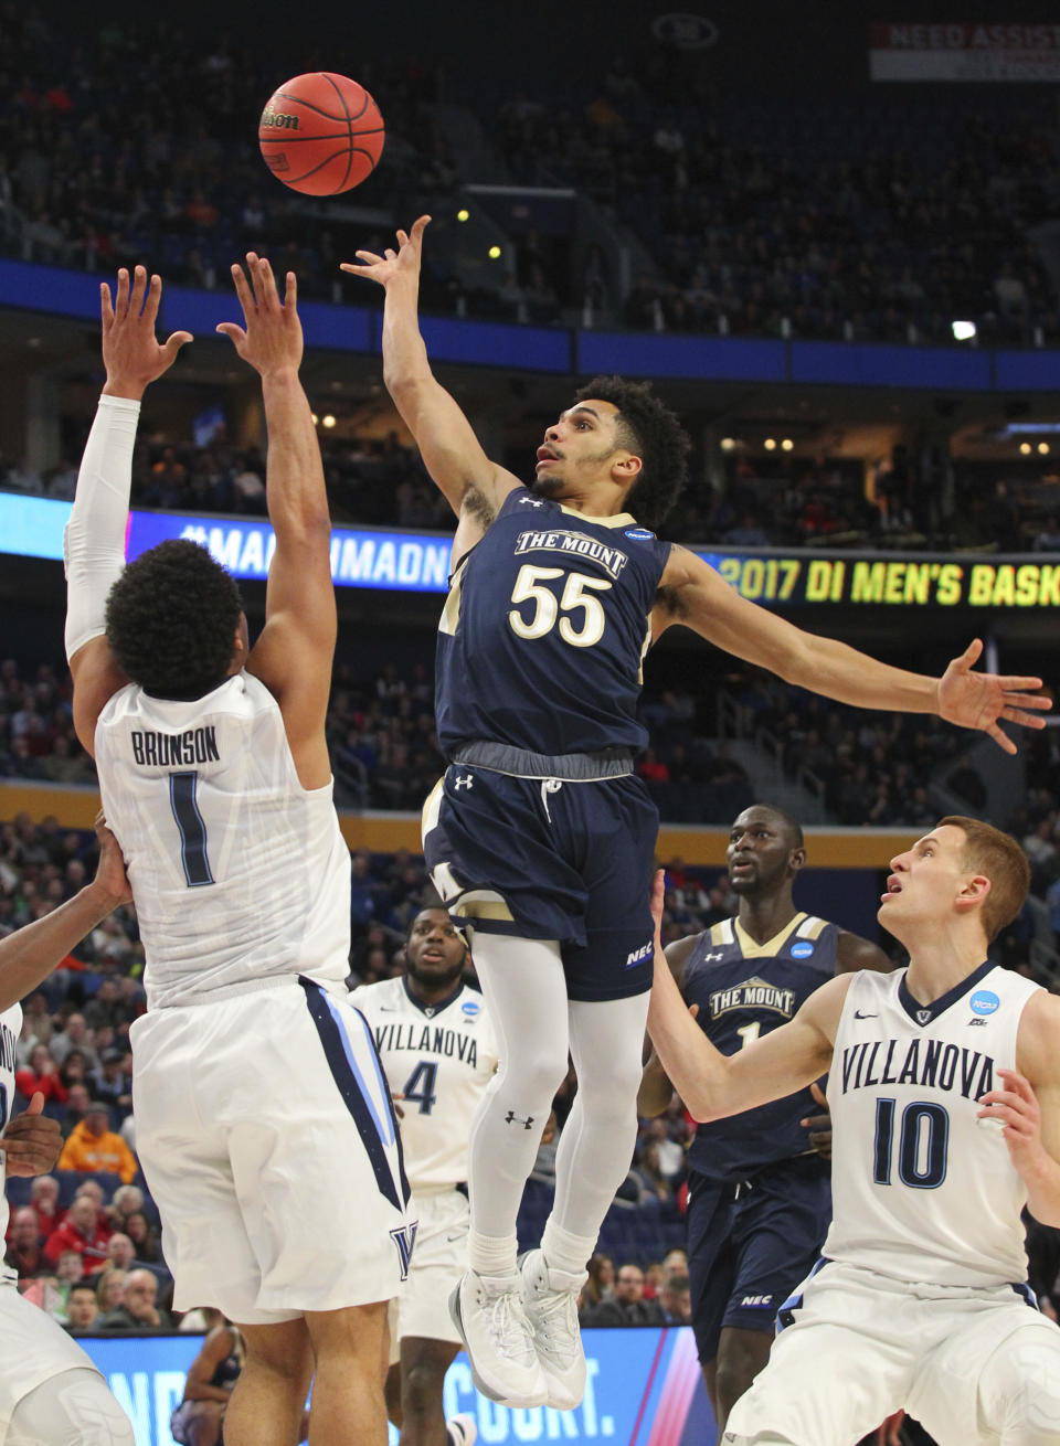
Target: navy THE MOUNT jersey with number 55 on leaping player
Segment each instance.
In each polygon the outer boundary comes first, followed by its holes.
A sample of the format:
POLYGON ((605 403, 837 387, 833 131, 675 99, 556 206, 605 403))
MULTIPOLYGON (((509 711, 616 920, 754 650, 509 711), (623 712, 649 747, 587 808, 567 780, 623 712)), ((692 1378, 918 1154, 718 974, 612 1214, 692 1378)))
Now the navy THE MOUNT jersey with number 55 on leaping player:
POLYGON ((670 544, 516 487, 458 562, 438 625, 438 742, 639 749, 641 661, 670 544))

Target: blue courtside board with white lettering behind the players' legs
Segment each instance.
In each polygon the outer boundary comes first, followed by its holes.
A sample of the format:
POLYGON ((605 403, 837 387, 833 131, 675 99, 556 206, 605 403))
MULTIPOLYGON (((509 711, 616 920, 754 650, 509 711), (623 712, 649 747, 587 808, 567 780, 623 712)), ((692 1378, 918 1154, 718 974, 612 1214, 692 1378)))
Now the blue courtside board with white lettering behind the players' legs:
MULTIPOLYGON (((78 1336, 133 1423, 136 1446, 174 1446, 169 1417, 202 1348, 201 1335, 78 1336)), ((586 1395, 573 1411, 512 1411, 479 1395, 461 1351, 445 1375, 445 1416, 467 1413, 483 1446, 603 1442, 714 1446, 717 1434, 687 1326, 584 1330, 586 1395)), ((398 1432, 390 1427, 390 1443, 398 1432)))

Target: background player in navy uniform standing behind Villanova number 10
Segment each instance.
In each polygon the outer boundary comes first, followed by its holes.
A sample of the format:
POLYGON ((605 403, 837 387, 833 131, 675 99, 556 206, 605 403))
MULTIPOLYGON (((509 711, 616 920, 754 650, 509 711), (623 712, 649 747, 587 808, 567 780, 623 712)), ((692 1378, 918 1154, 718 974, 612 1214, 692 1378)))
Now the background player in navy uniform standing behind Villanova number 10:
MULTIPOLYGON (((745 808, 726 857, 736 918, 667 949, 684 1002, 723 1054, 785 1024, 834 975, 891 969, 882 949, 795 908, 805 847, 788 814, 765 804, 745 808)), ((672 1090, 652 1054, 639 1112, 661 1113, 672 1090)), ((813 1148, 803 1124, 814 1112, 803 1089, 700 1125, 688 1151, 693 1329, 719 1439, 766 1362, 777 1309, 808 1274, 832 1219, 829 1151, 813 1148)))

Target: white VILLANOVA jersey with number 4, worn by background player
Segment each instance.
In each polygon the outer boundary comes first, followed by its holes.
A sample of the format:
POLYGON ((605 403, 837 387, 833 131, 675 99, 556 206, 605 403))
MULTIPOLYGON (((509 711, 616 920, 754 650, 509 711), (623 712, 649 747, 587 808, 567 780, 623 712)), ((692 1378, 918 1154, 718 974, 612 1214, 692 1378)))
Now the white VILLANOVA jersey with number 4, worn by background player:
POLYGON ((350 998, 372 1025, 390 1092, 402 1096, 401 1141, 412 1190, 467 1180, 471 1118, 497 1067, 482 995, 461 985, 441 1004, 424 1005, 403 979, 383 979, 350 998))

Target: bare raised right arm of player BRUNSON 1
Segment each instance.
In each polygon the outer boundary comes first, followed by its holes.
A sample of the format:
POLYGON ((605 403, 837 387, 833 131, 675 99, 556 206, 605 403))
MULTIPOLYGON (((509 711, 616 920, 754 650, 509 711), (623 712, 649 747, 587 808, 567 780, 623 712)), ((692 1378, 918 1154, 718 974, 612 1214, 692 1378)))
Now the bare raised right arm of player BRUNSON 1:
POLYGON ((265 492, 276 534, 265 628, 250 652, 247 671, 279 703, 302 787, 324 788, 331 779, 324 719, 337 616, 324 466, 309 402, 298 379, 302 324, 296 282, 294 272, 288 272, 281 301, 272 268, 253 252, 247 253, 247 275, 242 266, 233 266, 231 275, 244 325, 223 321, 217 330, 262 377, 269 431, 265 492))

